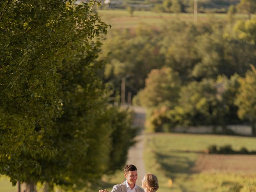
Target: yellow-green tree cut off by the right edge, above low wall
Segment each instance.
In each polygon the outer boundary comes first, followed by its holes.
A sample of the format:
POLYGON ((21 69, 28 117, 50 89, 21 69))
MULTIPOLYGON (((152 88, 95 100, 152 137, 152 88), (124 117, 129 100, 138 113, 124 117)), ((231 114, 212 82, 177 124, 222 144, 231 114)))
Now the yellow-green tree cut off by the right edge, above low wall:
POLYGON ((244 78, 240 79, 240 88, 236 96, 236 105, 238 106, 238 116, 241 119, 247 119, 252 124, 252 134, 256 136, 256 69, 246 73, 244 78))

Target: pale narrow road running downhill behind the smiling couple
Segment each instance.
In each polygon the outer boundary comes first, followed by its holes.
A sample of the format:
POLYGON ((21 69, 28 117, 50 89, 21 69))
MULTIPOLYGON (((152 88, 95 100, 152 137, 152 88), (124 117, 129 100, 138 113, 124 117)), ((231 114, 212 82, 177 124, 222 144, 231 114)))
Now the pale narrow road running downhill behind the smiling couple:
POLYGON ((141 186, 141 180, 143 176, 146 174, 146 169, 144 165, 144 160, 143 160, 143 151, 144 151, 144 134, 143 134, 143 129, 144 129, 144 122, 145 122, 145 109, 144 108, 139 108, 139 107, 133 107, 134 112, 135 112, 135 117, 134 117, 134 126, 138 126, 142 129, 140 132, 140 135, 136 136, 136 141, 137 143, 135 146, 131 147, 129 152, 128 152, 128 159, 126 164, 134 164, 137 167, 138 170, 138 179, 136 184, 138 186, 141 186))

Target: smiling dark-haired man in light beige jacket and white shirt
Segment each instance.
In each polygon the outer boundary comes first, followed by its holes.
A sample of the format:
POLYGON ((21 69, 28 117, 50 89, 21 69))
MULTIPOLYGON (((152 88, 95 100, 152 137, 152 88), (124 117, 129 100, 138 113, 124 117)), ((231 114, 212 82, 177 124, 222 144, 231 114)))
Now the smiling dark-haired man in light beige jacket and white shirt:
MULTIPOLYGON (((114 185, 111 192, 144 192, 140 186, 136 185, 138 178, 136 166, 129 164, 124 167, 124 177, 126 180, 118 185, 114 185)), ((99 190, 99 192, 108 192, 107 190, 99 190)))

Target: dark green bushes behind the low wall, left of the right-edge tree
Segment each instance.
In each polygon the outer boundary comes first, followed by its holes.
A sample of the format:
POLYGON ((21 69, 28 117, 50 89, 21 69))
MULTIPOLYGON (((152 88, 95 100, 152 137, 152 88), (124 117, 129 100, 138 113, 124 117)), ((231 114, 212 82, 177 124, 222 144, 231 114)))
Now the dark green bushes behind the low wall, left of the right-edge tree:
POLYGON ((216 81, 203 79, 183 86, 178 104, 167 113, 170 126, 240 123, 234 104, 234 95, 240 86, 238 78, 237 74, 230 79, 219 76, 216 81))

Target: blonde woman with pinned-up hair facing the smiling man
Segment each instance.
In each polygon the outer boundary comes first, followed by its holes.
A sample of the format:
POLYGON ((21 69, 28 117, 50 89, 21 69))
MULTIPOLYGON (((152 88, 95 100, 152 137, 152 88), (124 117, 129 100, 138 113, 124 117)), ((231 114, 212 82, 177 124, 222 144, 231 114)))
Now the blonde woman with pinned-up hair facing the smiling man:
POLYGON ((142 179, 142 188, 144 192, 156 192, 159 188, 158 179, 152 173, 147 173, 142 179))

